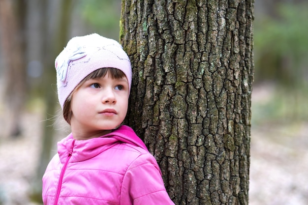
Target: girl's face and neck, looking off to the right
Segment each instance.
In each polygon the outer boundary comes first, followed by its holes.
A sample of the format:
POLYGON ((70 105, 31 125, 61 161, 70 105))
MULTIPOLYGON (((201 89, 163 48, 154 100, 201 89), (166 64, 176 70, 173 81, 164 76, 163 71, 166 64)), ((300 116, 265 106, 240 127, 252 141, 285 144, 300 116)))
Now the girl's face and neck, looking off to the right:
POLYGON ((71 129, 75 139, 90 139, 107 134, 124 120, 129 87, 125 77, 104 77, 84 82, 71 99, 71 129))

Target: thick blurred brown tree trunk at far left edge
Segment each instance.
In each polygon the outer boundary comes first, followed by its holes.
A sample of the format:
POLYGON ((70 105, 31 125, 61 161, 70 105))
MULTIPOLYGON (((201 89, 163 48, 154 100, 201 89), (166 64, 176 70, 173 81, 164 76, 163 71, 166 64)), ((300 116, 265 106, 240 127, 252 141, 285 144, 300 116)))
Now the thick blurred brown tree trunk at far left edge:
POLYGON ((24 0, 0 0, 1 46, 5 57, 4 136, 20 135, 20 114, 26 101, 26 5, 24 0))

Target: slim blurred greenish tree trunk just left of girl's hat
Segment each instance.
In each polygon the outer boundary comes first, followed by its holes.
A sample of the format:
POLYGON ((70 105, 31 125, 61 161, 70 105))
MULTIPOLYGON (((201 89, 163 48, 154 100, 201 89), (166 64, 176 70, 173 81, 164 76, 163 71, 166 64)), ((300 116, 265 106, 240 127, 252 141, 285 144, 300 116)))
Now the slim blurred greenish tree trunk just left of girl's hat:
MULTIPOLYGON (((47 115, 53 116, 56 115, 57 110, 60 107, 58 105, 57 92, 53 89, 53 85, 56 85, 56 70, 55 70, 55 57, 62 51, 65 47, 68 33, 69 33, 69 24, 70 17, 72 13, 72 0, 63 0, 60 1, 59 11, 55 13, 58 15, 58 18, 55 20, 57 22, 55 29, 52 30, 52 25, 49 25, 48 22, 48 9, 50 7, 50 0, 40 0, 41 10, 43 11, 42 24, 42 51, 43 55, 43 64, 44 64, 44 74, 43 74, 43 87, 44 87, 44 104, 45 104, 45 113, 47 115), (52 30, 52 31, 51 31, 52 30)), ((54 144, 54 121, 47 119, 44 121, 43 126, 43 136, 42 136, 42 148, 38 161, 37 174, 32 182, 32 193, 31 198, 35 202, 42 202, 42 176, 45 173, 46 167, 51 159, 52 147, 54 144)))

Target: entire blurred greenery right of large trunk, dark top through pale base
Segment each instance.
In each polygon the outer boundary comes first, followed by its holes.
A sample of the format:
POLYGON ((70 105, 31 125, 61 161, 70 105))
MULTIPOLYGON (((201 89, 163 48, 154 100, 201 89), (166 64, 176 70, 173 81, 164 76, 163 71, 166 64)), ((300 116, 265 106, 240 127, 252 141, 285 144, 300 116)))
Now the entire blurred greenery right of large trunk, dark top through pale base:
POLYGON ((308 121, 308 2, 275 8, 255 13, 252 124, 308 121))

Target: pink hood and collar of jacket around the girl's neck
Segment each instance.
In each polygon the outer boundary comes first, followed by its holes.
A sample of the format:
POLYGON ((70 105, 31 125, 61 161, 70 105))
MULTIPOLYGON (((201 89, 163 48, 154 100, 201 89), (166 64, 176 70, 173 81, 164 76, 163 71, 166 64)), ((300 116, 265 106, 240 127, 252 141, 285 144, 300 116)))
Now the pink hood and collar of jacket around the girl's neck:
POLYGON ((71 154, 72 162, 79 162, 90 159, 119 142, 139 146, 148 151, 146 145, 133 129, 122 125, 109 134, 89 140, 75 140, 72 133, 70 133, 62 141, 58 142, 58 153, 62 163, 65 162, 69 154, 71 154))

